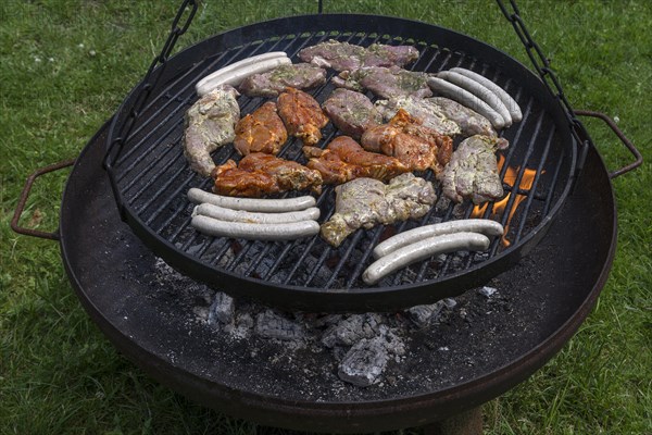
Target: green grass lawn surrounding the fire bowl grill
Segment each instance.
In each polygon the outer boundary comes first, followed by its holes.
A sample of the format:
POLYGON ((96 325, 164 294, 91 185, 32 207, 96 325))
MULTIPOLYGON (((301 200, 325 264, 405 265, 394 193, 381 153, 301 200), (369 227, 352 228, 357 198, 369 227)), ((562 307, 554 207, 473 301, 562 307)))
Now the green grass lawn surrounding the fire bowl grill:
MULTIPOLYGON (((75 157, 160 51, 177 2, 0 4, 0 434, 253 434, 149 378, 109 344, 76 299, 55 243, 9 228, 25 177, 75 157)), ((529 65, 491 1, 325 1, 326 11, 424 20, 529 65)), ((645 162, 613 181, 616 259, 599 302, 542 370, 485 407, 487 434, 652 433, 652 2, 519 1, 577 109, 603 111, 645 162)), ((205 1, 186 47, 316 1, 205 1), (287 7, 292 3, 293 7, 287 7)), ((607 167, 631 160, 600 122, 587 126, 607 167)), ((65 171, 37 182, 23 223, 58 224, 65 171)))

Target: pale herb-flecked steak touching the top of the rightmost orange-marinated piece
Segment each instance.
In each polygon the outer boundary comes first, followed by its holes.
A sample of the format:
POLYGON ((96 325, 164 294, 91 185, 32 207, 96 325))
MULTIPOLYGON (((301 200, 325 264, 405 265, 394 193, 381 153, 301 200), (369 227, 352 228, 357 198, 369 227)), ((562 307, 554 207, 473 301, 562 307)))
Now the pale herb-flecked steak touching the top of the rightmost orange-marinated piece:
MULTIPOLYGON (((399 109, 404 109, 412 116, 421 120, 422 125, 442 135, 455 136, 462 133, 460 125, 448 117, 440 107, 432 104, 431 99, 413 96, 390 98, 376 101, 376 108, 383 113, 385 121, 391 120, 399 109)), ((489 125, 491 126, 491 125, 489 125)))

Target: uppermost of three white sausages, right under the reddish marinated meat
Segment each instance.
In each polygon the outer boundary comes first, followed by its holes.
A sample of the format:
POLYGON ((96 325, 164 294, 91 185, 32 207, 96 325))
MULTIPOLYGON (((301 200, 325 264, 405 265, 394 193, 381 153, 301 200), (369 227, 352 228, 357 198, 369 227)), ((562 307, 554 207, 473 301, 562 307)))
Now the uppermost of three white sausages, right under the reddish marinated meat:
POLYGON ((192 187, 188 190, 188 199, 195 203, 208 202, 233 210, 258 211, 264 213, 305 210, 317 203, 310 195, 285 199, 235 198, 211 194, 198 189, 197 187, 192 187))

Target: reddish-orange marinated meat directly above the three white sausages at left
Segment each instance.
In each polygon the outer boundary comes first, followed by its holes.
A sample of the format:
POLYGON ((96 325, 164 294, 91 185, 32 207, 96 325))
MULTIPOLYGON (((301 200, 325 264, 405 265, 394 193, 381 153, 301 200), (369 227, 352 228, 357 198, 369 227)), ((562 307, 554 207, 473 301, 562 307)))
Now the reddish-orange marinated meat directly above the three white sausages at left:
POLYGON ((322 192, 322 175, 291 160, 252 152, 240 164, 228 160, 213 172, 213 191, 220 195, 260 198, 288 190, 322 192))

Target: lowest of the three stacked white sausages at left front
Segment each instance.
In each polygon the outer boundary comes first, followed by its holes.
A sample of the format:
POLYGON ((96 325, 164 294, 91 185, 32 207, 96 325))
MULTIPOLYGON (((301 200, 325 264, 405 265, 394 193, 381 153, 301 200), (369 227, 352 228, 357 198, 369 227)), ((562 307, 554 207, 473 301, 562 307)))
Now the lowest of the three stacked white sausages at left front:
POLYGON ((196 215, 190 224, 200 233, 215 237, 243 238, 248 240, 293 240, 319 233, 316 221, 301 221, 284 224, 252 224, 248 222, 226 222, 213 217, 196 215))

